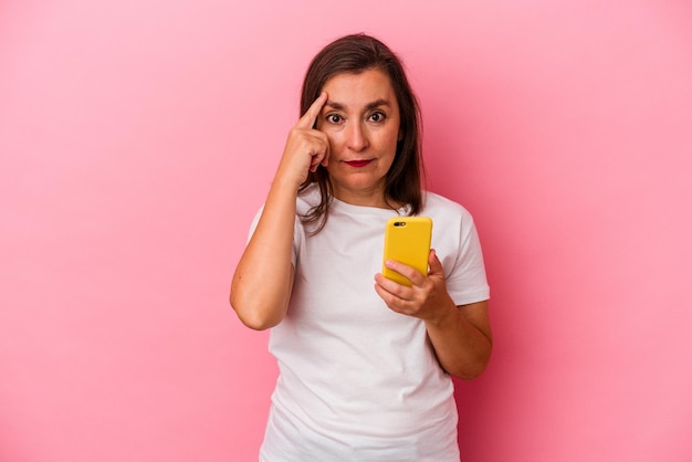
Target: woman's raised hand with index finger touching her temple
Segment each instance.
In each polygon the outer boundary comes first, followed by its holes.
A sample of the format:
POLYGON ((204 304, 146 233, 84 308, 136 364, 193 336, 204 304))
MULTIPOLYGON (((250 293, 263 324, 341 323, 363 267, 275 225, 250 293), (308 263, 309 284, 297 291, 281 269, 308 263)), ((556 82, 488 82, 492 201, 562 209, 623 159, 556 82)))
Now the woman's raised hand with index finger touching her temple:
POLYGON ((289 132, 276 177, 295 181, 296 189, 307 179, 308 171, 314 172, 319 165, 326 167, 329 161, 327 135, 313 128, 326 102, 327 94, 322 92, 289 132))

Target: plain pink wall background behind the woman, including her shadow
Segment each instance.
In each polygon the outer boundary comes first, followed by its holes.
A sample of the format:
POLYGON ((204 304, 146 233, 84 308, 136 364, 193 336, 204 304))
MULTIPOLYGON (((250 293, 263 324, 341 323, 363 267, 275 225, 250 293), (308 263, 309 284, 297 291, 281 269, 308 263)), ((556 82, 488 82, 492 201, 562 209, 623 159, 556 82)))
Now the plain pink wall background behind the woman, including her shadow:
POLYGON ((0 2, 0 460, 256 460, 276 368, 230 277, 357 31, 484 245, 464 461, 692 460, 686 0, 0 2))

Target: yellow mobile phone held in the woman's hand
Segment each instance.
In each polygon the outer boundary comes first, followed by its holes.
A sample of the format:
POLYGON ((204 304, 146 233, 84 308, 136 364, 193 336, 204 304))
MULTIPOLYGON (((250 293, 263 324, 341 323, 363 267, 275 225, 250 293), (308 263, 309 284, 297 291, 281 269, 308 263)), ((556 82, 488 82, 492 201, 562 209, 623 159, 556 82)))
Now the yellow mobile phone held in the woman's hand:
POLYGON ((431 239, 432 220, 428 217, 395 217, 387 220, 382 274, 399 284, 411 286, 407 277, 385 267, 385 261, 396 260, 428 274, 431 239))

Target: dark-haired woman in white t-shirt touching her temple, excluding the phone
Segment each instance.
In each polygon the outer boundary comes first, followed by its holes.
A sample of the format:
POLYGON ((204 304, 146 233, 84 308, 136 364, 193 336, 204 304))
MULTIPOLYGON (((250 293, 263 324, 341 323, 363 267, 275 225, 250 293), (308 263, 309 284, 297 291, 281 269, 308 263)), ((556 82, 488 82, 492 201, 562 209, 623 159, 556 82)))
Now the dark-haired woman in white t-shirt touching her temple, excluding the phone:
POLYGON ((476 377, 492 349, 472 218, 421 190, 418 105, 380 41, 323 49, 301 114, 231 286, 280 368, 260 459, 459 461, 450 376, 476 377), (386 262, 411 286, 379 273, 400 214, 434 223, 428 274, 386 262))

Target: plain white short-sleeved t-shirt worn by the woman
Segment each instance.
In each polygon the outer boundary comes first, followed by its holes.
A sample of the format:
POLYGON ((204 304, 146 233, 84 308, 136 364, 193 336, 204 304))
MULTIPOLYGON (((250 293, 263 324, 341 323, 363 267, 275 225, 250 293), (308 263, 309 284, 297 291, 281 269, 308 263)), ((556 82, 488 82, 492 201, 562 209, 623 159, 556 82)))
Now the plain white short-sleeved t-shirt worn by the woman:
MULTIPOLYGON (((424 198, 420 214, 432 218, 452 300, 487 300, 471 214, 441 196, 424 198)), ((313 187, 298 197, 298 213, 318 201, 313 187)), ((397 214, 405 210, 334 199, 314 235, 296 217, 291 303, 270 334, 280 376, 261 461, 459 461, 453 384, 426 326, 389 309, 374 288, 385 222, 397 214)))

